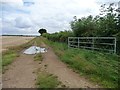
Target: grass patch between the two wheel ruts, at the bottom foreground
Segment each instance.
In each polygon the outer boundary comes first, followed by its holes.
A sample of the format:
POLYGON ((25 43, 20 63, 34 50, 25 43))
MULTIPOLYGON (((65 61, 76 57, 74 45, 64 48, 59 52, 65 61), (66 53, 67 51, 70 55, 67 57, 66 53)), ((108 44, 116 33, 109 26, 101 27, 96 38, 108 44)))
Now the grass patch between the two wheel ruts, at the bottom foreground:
POLYGON ((56 76, 48 74, 47 72, 40 72, 37 77, 37 88, 56 88, 60 82, 56 76))

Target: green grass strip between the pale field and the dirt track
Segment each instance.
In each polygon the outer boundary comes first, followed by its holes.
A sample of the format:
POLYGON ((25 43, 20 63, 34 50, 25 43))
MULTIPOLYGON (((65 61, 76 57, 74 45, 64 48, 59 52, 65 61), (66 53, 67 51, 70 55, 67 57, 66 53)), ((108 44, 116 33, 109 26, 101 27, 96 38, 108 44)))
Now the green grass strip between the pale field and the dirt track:
POLYGON ((6 51, 3 51, 2 52, 2 72, 4 73, 7 69, 7 66, 9 64, 11 64, 16 57, 19 57, 20 55, 20 51, 28 48, 29 46, 33 45, 34 44, 34 41, 36 40, 37 38, 34 38, 32 39, 31 41, 25 43, 25 44, 22 44, 22 45, 19 45, 19 46, 13 46, 13 47, 10 47, 8 50, 6 51))

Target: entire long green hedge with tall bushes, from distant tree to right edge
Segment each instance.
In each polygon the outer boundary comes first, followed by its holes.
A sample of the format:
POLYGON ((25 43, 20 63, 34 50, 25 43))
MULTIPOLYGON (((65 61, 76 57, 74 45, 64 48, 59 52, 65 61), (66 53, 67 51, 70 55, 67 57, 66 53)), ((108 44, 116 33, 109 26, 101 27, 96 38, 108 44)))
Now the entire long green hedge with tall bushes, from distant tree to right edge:
POLYGON ((100 14, 93 17, 82 17, 70 22, 71 31, 61 31, 53 34, 45 33, 44 37, 52 41, 67 43, 68 37, 116 37, 117 53, 120 54, 120 8, 115 9, 114 3, 101 5, 100 14))

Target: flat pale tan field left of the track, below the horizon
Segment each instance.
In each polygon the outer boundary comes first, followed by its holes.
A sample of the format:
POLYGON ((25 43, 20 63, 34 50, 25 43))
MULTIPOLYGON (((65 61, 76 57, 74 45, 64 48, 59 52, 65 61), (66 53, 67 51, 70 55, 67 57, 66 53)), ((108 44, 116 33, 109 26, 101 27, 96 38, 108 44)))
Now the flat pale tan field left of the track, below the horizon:
POLYGON ((0 52, 3 50, 6 50, 7 48, 11 46, 17 46, 21 45, 23 43, 26 43, 33 39, 34 37, 22 37, 22 36, 0 36, 0 46, 2 46, 2 49, 0 52))

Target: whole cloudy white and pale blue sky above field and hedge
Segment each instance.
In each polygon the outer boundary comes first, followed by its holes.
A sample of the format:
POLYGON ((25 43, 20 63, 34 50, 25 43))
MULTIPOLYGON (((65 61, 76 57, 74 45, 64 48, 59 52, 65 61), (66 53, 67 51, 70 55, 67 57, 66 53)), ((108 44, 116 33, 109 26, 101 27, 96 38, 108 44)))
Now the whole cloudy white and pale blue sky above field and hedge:
POLYGON ((70 22, 88 15, 98 15, 100 5, 119 0, 0 0, 2 34, 39 35, 70 30, 70 22))

